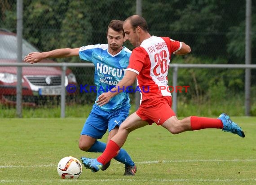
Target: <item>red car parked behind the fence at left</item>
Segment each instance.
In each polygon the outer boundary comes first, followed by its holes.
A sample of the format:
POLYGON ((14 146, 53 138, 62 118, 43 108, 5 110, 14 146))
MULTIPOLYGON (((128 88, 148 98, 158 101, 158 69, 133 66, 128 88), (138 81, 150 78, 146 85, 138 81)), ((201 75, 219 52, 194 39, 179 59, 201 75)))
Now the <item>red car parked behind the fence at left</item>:
MULTIPOLYGON (((22 59, 31 52, 39 52, 37 48, 22 40, 22 59)), ((0 29, 0 63, 17 62, 16 34, 0 29)), ((24 61, 22 61, 24 62, 24 61)), ((50 59, 41 62, 54 62, 50 59)), ((61 94, 60 67, 22 67, 22 103, 36 106, 39 100, 46 97, 60 97, 61 94)), ((77 84, 75 75, 67 68, 65 86, 77 84)), ((16 103, 17 67, 0 66, 0 102, 8 105, 16 103)))

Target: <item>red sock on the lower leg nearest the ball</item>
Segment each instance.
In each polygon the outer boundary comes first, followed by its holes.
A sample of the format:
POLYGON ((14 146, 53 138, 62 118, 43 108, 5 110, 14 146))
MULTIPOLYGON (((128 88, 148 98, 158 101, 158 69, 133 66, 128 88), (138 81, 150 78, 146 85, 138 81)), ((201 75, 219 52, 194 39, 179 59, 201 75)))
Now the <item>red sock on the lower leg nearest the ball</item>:
POLYGON ((97 158, 97 161, 105 165, 117 155, 117 152, 119 150, 119 145, 117 145, 114 141, 110 140, 106 145, 106 149, 104 150, 102 155, 97 158))

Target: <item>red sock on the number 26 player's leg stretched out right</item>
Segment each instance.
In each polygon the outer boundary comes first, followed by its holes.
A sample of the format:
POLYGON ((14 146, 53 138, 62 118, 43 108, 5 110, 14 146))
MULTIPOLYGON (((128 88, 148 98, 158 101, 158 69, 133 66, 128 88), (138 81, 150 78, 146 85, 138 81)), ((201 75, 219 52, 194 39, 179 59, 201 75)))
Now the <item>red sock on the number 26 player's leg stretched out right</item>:
POLYGON ((215 118, 191 116, 190 122, 192 130, 200 130, 204 128, 223 128, 223 123, 221 120, 215 118))

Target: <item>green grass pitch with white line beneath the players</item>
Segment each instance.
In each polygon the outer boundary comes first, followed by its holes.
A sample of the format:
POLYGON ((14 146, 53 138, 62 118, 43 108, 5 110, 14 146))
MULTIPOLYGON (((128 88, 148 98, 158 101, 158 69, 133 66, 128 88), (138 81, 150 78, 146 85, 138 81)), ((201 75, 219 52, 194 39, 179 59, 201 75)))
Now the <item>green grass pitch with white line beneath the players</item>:
POLYGON ((57 174, 60 159, 98 156, 78 148, 85 119, 2 118, 0 184, 254 185, 256 117, 232 119, 245 138, 217 129, 172 135, 160 126, 146 126, 132 132, 124 145, 137 164, 136 176, 123 176, 124 165, 112 160, 107 171, 83 168, 79 179, 62 180, 57 174))

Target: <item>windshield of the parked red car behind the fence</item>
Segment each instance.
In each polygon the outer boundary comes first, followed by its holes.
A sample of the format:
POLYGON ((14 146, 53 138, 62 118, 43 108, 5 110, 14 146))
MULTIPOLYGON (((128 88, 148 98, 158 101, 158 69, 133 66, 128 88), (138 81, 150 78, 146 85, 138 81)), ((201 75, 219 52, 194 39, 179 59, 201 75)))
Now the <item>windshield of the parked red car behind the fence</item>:
MULTIPOLYGON (((23 39, 22 58, 31 52, 39 51, 23 39)), ((15 35, 0 35, 0 59, 17 59, 17 37, 15 35)))

